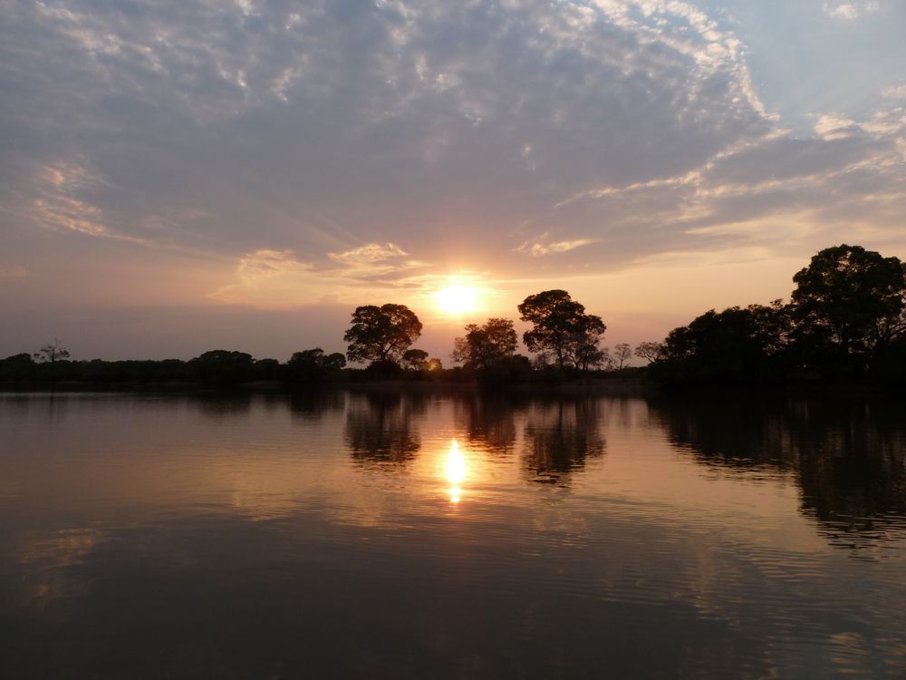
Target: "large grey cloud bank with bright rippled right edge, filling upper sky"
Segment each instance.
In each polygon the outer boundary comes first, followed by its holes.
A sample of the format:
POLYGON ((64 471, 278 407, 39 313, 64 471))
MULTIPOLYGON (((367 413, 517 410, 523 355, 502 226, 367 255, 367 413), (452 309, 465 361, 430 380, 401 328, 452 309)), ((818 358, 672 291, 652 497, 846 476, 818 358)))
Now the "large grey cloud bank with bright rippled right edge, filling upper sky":
POLYGON ((14 167, 78 159, 98 181, 32 206, 43 225, 231 257, 380 239, 433 261, 450 234, 511 252, 493 235, 584 187, 688 170, 770 124, 737 38, 679 2, 51 0, 7 18, 0 122, 21 144, 0 184, 34 194, 14 167))

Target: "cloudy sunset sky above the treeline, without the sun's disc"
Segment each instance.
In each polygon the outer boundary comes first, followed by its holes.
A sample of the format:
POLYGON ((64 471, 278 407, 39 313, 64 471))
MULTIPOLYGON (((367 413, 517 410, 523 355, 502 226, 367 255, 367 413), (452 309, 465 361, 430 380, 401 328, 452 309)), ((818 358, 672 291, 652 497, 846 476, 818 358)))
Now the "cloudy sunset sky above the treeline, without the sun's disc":
POLYGON ((901 0, 0 0, 0 356, 285 360, 395 302, 446 363, 548 288, 636 344, 821 248, 906 258, 904 34, 901 0))

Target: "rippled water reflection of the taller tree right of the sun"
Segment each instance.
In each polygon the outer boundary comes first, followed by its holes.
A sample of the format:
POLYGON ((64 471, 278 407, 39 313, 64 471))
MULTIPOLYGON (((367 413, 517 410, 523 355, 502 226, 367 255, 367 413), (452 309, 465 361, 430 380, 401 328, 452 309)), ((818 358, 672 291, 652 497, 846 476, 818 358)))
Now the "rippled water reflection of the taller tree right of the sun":
POLYGON ((604 452, 600 408, 601 400, 595 398, 533 405, 525 422, 523 454, 533 481, 568 486, 573 471, 604 452))

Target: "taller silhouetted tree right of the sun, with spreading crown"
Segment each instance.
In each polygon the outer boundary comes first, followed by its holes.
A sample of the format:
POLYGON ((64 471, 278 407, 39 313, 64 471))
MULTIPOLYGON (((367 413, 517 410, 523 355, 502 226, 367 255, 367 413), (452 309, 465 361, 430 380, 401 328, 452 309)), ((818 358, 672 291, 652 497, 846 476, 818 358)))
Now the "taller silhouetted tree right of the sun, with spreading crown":
POLYGON ((522 336, 525 346, 531 352, 552 352, 560 366, 587 363, 583 358, 593 355, 607 329, 600 316, 585 314, 585 307, 565 290, 526 297, 519 314, 533 325, 522 336))

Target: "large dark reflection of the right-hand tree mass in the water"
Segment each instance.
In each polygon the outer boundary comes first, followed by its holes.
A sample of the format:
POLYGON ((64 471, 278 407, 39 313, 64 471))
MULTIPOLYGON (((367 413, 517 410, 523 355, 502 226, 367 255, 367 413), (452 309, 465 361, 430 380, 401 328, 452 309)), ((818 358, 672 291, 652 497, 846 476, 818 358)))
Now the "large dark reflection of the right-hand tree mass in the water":
POLYGON ((658 400, 672 442, 727 470, 783 471, 801 507, 841 547, 906 532, 903 404, 857 399, 658 400))

